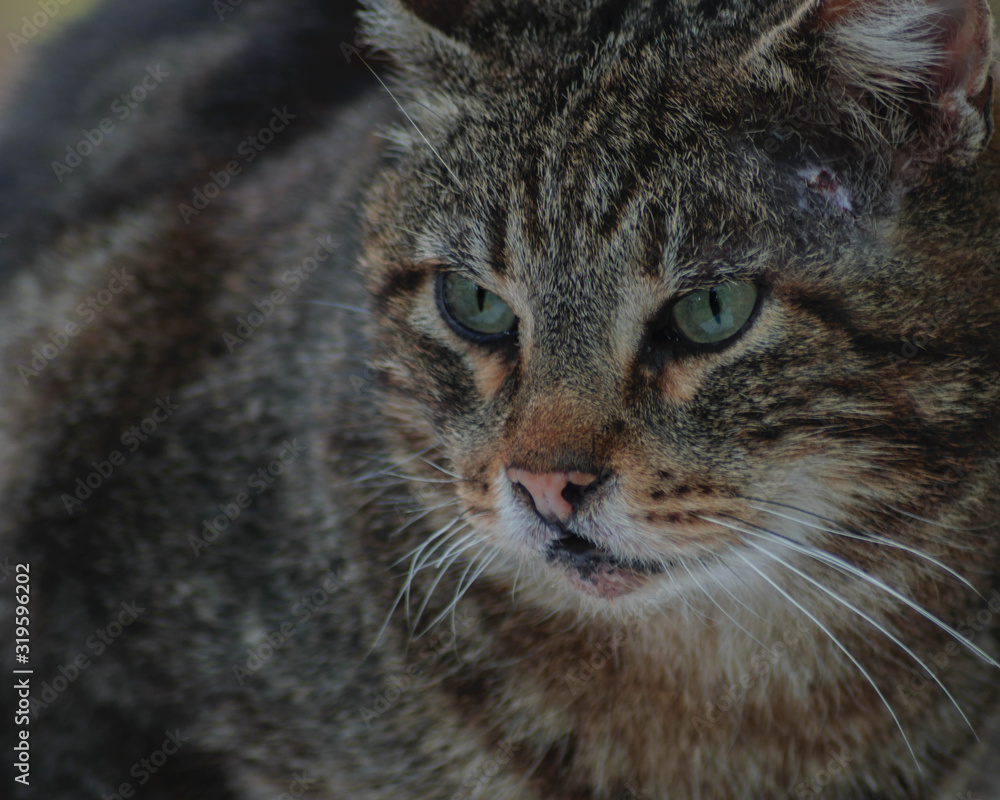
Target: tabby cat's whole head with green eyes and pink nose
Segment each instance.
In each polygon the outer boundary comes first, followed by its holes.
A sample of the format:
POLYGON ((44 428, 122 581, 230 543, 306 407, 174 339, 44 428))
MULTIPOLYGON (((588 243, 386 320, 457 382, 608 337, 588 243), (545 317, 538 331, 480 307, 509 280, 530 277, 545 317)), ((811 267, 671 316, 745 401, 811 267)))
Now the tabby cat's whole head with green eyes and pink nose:
POLYGON ((621 607, 854 567, 919 594, 982 546, 956 530, 998 438, 982 2, 367 25, 408 119, 362 266, 439 557, 621 607))

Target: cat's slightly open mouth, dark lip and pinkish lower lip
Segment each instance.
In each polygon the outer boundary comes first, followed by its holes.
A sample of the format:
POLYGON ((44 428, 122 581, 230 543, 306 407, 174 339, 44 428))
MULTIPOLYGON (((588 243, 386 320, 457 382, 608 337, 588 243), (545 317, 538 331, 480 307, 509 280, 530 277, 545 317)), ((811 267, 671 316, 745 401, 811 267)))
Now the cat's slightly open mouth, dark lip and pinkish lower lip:
POLYGON ((638 589, 649 576, 663 571, 659 564, 623 560, 600 545, 560 525, 545 550, 545 560, 565 570, 579 589, 611 598, 638 589))

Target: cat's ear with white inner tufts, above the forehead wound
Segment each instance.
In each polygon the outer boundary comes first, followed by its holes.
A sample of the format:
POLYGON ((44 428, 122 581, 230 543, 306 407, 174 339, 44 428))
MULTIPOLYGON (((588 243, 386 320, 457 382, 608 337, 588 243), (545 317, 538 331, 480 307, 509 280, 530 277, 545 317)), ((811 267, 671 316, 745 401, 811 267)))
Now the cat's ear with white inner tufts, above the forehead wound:
POLYGON ((795 27, 814 47, 839 127, 884 150, 895 187, 985 147, 996 69, 985 0, 814 0, 795 27))

